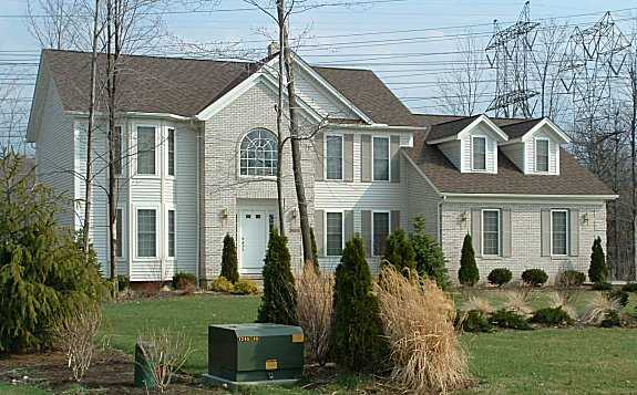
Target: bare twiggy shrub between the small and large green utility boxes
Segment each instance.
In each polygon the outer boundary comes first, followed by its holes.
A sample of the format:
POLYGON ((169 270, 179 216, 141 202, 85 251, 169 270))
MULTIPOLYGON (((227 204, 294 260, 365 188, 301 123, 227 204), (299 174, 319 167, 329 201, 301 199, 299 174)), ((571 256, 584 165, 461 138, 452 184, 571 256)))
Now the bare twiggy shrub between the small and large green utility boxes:
POLYGON ((162 393, 194 352, 184 333, 171 332, 169 329, 150 330, 138 336, 137 343, 152 371, 147 373, 153 375, 162 393))

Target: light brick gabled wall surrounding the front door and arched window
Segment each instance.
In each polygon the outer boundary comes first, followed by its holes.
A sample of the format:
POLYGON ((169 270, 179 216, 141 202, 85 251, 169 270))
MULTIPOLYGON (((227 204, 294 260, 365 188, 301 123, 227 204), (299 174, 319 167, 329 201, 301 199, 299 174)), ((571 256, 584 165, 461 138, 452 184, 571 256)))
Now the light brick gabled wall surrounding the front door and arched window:
MULTIPOLYGON (((254 128, 267 128, 276 134, 275 104, 277 96, 263 84, 224 107, 212 119, 205 122, 201 150, 201 210, 199 224, 201 272, 202 280, 214 280, 220 272, 223 239, 226 233, 237 236, 237 199, 255 199, 256 202, 269 199, 276 205, 277 189, 274 177, 269 179, 239 177, 239 145, 242 138, 254 128), (223 211, 228 208, 229 216, 223 211)), ((285 132, 287 134, 287 125, 285 132)), ((308 132, 308 127, 304 129, 308 132)), ((306 196, 309 202, 310 224, 314 224, 314 165, 311 141, 302 144, 302 169, 306 196)), ((294 175, 291 171, 291 150, 286 143, 284 156, 284 195, 288 247, 292 257, 292 268, 301 268, 301 239, 299 219, 292 218, 291 209, 296 205, 294 175)), ((193 224, 193 226, 196 226, 193 224)), ((238 245, 238 241, 237 241, 238 245)))

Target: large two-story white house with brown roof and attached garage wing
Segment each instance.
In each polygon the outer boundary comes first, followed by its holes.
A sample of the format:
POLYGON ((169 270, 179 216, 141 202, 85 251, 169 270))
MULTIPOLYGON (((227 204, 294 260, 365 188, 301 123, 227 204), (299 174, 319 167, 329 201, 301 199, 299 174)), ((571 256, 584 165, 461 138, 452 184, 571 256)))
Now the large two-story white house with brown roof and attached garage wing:
MULTIPOLYGON (((279 152, 276 136, 277 61, 124 58, 115 131, 120 274, 213 280, 226 233, 237 240, 239 272, 259 274, 278 224, 279 155, 286 230, 301 266, 290 147, 279 152)), ((378 267, 387 235, 411 229, 417 215, 452 278, 468 232, 482 279, 499 267, 585 271, 594 238, 606 240, 606 201, 616 195, 563 149, 568 136, 551 119, 413 114, 371 71, 295 61, 321 267, 335 268, 355 233, 378 267)), ((75 201, 61 216, 74 227, 83 216, 76 175, 85 168, 89 75, 90 54, 43 51, 28 129, 39 180, 75 201)), ((104 127, 94 146, 90 237, 110 276, 104 127)))

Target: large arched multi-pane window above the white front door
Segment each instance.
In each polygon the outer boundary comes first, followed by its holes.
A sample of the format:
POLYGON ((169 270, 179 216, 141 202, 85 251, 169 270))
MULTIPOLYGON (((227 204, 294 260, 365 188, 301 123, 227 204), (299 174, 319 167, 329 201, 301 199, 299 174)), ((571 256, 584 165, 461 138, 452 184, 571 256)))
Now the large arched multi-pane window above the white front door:
POLYGON ((276 176, 278 156, 277 136, 270 131, 254 129, 242 141, 240 175, 276 176))

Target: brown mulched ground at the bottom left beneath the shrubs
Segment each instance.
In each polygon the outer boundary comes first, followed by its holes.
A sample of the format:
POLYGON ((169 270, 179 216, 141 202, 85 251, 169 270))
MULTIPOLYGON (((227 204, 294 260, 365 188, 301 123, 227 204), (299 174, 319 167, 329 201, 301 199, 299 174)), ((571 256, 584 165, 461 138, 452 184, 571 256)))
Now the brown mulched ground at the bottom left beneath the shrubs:
MULTIPOLYGON (((78 384, 68 367, 66 355, 61 351, 33 354, 0 353, 0 380, 20 385, 24 382, 54 394, 72 392, 81 387, 99 394, 160 394, 157 388, 137 388, 134 382, 135 361, 117 350, 99 350, 91 368, 78 384)), ((78 392, 73 392, 78 393, 78 392)), ((201 375, 179 374, 168 387, 171 394, 222 393, 204 387, 201 375)))

